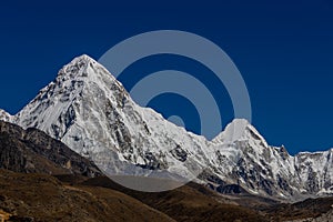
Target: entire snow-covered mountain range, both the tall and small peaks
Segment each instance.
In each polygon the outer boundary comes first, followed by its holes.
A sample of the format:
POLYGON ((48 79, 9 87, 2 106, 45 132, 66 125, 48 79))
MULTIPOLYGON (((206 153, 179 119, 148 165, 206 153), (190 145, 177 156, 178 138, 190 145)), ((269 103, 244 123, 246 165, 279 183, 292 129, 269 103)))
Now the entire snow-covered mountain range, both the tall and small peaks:
POLYGON ((332 150, 291 157, 283 147, 270 147, 246 120, 232 121, 208 141, 137 105, 88 56, 64 65, 12 122, 43 130, 111 174, 182 182, 199 174, 220 192, 236 184, 275 198, 333 193, 332 150))

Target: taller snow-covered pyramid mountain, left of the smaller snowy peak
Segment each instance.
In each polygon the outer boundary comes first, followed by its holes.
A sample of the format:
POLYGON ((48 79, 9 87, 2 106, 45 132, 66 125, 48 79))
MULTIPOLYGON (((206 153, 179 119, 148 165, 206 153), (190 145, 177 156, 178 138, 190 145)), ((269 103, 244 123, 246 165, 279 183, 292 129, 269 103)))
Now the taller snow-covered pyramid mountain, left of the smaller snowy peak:
POLYGON ((88 56, 63 67, 14 119, 93 158, 111 174, 147 175, 160 170, 154 176, 192 180, 203 168, 209 147, 203 137, 137 105, 122 84, 88 56))

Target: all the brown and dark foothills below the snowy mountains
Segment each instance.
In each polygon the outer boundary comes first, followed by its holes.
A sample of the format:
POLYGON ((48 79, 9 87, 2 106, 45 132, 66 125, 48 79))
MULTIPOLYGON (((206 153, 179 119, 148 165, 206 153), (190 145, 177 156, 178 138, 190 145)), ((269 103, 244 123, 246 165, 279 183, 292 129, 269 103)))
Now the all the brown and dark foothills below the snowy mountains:
POLYGON ((133 191, 46 133, 0 121, 0 220, 330 221, 332 204, 333 198, 281 203, 221 194, 193 182, 167 192, 133 191))

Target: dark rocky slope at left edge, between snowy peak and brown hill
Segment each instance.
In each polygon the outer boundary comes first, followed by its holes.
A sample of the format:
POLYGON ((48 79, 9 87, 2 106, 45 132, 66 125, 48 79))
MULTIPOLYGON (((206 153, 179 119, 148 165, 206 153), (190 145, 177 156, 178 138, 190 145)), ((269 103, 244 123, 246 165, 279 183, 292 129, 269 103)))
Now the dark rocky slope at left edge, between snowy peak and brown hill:
POLYGON ((16 172, 100 175, 99 169, 37 129, 0 121, 0 168, 16 172))

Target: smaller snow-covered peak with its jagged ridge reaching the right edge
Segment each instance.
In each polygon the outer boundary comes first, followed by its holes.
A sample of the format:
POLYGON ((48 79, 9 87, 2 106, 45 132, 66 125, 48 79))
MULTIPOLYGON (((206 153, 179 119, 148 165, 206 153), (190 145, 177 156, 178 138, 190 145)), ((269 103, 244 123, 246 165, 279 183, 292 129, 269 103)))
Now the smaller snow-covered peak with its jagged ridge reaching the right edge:
POLYGON ((292 157, 284 147, 268 145, 245 120, 234 120, 214 142, 213 165, 224 181, 233 179, 254 193, 294 200, 333 193, 333 149, 292 157))

